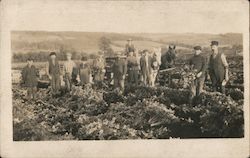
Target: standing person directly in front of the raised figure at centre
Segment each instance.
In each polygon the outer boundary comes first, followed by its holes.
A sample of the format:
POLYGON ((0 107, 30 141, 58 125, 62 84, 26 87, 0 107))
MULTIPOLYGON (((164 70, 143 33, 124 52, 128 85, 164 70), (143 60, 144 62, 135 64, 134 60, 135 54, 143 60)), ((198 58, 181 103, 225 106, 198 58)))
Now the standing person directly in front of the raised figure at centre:
POLYGON ((128 81, 131 85, 138 85, 139 63, 133 52, 129 52, 127 58, 128 81))

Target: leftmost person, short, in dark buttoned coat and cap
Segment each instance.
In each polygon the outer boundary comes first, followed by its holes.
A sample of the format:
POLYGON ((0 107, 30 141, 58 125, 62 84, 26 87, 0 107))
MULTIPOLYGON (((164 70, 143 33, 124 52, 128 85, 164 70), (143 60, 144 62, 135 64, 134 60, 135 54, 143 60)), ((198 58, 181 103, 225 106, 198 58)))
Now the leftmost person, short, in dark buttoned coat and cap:
POLYGON ((38 79, 38 71, 33 65, 33 59, 28 58, 27 66, 25 66, 22 70, 22 79, 24 82, 24 86, 27 87, 27 97, 28 100, 35 99, 36 91, 37 91, 37 79, 38 79))

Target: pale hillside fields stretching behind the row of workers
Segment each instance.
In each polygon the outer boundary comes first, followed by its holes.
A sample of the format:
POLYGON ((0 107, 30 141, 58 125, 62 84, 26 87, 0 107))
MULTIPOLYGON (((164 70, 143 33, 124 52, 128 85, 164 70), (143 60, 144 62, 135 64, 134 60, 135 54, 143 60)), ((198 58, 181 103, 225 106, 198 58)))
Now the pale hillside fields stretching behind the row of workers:
POLYGON ((192 48, 193 45, 207 47, 211 40, 220 41, 221 45, 242 45, 242 34, 174 34, 174 33, 104 33, 104 32, 46 32, 13 31, 11 48, 13 53, 70 50, 77 52, 98 52, 98 41, 105 36, 112 42, 115 51, 124 49, 126 40, 132 38, 138 49, 166 47, 175 43, 178 49, 192 48))

